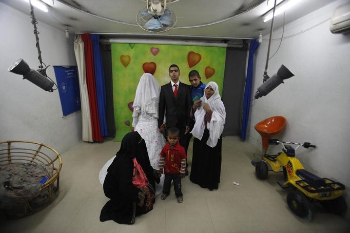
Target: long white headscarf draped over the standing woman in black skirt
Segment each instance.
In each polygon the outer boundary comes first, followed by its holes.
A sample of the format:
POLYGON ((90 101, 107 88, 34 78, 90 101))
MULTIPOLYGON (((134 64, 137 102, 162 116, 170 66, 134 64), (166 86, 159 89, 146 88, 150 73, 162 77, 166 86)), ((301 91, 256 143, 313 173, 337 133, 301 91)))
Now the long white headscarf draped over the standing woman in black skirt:
POLYGON ((224 103, 221 101, 218 84, 215 82, 209 82, 205 86, 205 89, 209 86, 211 86, 211 88, 214 90, 214 93, 210 96, 209 100, 206 98, 205 94, 201 98, 202 104, 195 112, 196 123, 195 126, 193 126, 191 133, 193 137, 198 138, 199 140, 202 139, 205 129, 204 116, 206 114, 206 111, 203 109, 203 105, 207 103, 212 110, 211 120, 207 123, 207 128, 209 130, 207 145, 210 147, 215 147, 218 143, 220 135, 222 134, 222 131, 224 130, 226 110, 224 103))

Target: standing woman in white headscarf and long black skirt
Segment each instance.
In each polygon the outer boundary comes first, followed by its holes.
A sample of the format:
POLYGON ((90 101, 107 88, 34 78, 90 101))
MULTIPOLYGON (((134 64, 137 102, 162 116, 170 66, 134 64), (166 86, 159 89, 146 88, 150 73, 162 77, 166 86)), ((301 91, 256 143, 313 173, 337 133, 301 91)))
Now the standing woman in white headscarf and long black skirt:
POLYGON ((209 82, 200 100, 193 103, 190 116, 195 119, 191 131, 193 153, 190 181, 209 190, 218 189, 221 172, 221 140, 226 111, 218 84, 209 82))

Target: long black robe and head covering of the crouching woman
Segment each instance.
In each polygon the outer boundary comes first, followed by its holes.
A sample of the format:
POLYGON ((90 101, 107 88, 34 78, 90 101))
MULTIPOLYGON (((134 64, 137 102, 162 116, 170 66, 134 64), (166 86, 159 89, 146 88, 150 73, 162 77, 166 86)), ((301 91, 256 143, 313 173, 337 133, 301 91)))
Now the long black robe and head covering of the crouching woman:
MULTIPOLYGON (((129 132, 124 136, 121 148, 107 170, 103 190, 110 200, 101 210, 101 222, 113 220, 117 223, 133 224, 135 216, 149 211, 145 206, 138 205, 141 190, 132 184, 133 158, 141 165, 154 193, 153 168, 149 162, 145 141, 138 132, 129 132)), ((154 203, 154 195, 151 202, 154 203)))

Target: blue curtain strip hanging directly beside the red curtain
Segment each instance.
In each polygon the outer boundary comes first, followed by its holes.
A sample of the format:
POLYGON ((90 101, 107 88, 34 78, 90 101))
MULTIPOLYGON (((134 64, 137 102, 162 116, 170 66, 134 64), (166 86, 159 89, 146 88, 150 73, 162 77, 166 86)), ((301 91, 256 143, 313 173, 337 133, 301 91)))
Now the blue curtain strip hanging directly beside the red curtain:
POLYGON ((96 97, 98 103, 100 128, 102 137, 108 135, 106 121, 106 89, 105 89, 105 73, 103 71, 102 56, 100 49, 100 35, 90 35, 93 48, 93 61, 96 83, 96 97))

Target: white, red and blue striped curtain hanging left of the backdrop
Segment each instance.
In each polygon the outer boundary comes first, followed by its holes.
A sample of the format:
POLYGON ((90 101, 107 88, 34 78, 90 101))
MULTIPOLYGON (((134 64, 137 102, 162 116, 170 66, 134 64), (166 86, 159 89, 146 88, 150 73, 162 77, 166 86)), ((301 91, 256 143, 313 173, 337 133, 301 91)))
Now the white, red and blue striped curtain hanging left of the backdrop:
POLYGON ((102 67, 99 36, 88 33, 76 35, 74 39, 74 52, 78 64, 79 85, 81 89, 83 141, 102 142, 103 137, 108 132, 105 114, 105 77, 102 67))

